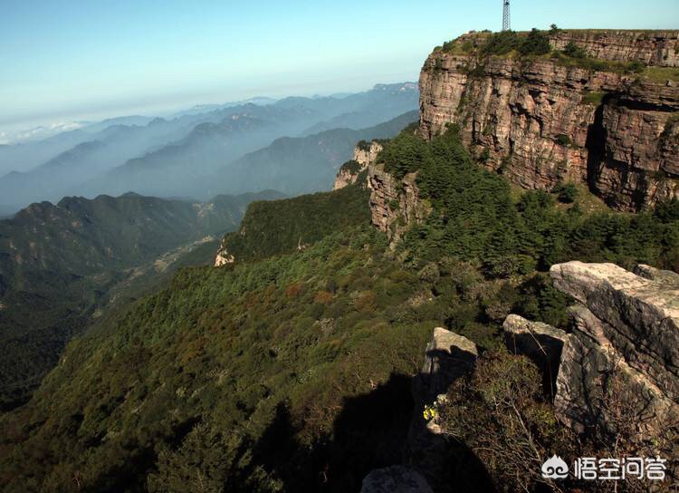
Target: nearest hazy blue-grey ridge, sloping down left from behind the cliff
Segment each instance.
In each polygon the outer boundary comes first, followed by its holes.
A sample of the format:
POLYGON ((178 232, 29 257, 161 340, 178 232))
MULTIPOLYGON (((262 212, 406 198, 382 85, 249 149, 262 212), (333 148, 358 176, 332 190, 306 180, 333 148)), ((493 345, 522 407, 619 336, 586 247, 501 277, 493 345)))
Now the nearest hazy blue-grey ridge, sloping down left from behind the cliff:
POLYGON ((201 189, 207 194, 239 193, 275 186, 288 195, 299 195, 329 190, 339 166, 351 159, 356 142, 393 137, 417 118, 417 111, 410 111, 359 131, 336 129, 308 137, 283 137, 226 165, 188 191, 193 194, 201 189))

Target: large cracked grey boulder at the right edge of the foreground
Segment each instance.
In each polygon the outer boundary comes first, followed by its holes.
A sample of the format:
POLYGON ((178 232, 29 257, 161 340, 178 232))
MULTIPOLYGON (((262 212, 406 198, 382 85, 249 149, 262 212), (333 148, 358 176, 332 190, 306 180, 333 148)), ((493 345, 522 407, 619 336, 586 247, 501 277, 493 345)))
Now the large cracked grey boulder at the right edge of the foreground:
POLYGON ((634 440, 657 439, 679 419, 679 275, 581 262, 552 266, 550 275, 577 302, 572 333, 515 315, 504 328, 509 337, 541 333, 563 344, 554 398, 559 419, 604 434, 632 422, 634 440))

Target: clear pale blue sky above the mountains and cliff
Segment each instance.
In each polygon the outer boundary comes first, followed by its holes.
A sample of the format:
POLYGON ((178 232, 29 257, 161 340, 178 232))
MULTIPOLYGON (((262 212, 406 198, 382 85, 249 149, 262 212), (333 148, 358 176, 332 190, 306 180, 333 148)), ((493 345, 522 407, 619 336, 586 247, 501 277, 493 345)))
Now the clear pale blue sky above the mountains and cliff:
MULTIPOLYGON (((512 28, 679 28, 679 0, 512 0, 512 28)), ((0 0, 0 132, 416 81, 502 0, 0 0)), ((2 133, 0 133, 0 140, 2 133)))

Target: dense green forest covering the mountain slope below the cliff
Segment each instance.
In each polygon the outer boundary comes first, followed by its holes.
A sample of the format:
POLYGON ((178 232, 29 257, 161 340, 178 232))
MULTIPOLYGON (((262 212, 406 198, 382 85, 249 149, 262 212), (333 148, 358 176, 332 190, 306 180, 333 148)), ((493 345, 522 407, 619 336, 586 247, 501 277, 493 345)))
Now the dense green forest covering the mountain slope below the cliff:
MULTIPOLYGON (((517 194, 454 128, 384 145, 379 162, 397 178, 417 172, 432 206, 396 249, 369 224, 363 179, 253 204, 225 242, 234 265, 179 270, 110 331, 70 343, 33 400, 0 416, 3 489, 358 491, 370 469, 402 459, 411 379, 435 326, 477 343, 482 372, 512 375, 499 391, 525 396, 540 447, 571 440, 532 363, 502 349, 502 321, 568 324, 569 300, 546 275, 554 263, 679 270, 679 203, 585 214, 562 189, 517 194)), ((451 396, 455 409, 473 404, 470 426, 491 430, 505 418, 476 399, 483 374, 451 396)), ((454 430, 459 417, 444 411, 454 430)), ((503 443, 489 464, 512 453, 503 443)), ((513 472, 488 469, 499 489, 512 490, 513 472)))

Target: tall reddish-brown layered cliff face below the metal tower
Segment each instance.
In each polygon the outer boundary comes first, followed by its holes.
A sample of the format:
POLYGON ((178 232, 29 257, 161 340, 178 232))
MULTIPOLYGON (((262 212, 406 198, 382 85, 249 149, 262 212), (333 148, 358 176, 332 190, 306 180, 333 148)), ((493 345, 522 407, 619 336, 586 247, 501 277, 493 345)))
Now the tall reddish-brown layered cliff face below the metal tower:
POLYGON ((679 196, 679 84, 670 68, 679 63, 679 32, 550 38, 556 49, 574 42, 608 61, 597 70, 549 56, 481 57, 474 46, 483 36, 465 35, 426 60, 423 136, 459 125, 485 166, 526 189, 584 182, 626 210, 679 196), (621 62, 654 67, 626 72, 621 62))

